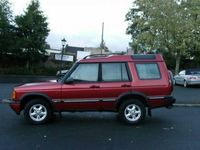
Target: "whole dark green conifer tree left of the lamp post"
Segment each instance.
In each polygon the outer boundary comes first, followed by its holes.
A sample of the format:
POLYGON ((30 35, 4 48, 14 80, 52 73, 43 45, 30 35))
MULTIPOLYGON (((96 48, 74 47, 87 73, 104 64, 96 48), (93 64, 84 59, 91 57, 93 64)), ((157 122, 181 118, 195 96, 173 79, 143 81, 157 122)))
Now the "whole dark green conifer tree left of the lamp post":
POLYGON ((47 18, 40 10, 38 0, 32 0, 24 14, 16 17, 18 47, 21 54, 26 57, 26 67, 30 63, 38 61, 45 53, 46 37, 49 29, 47 18))

